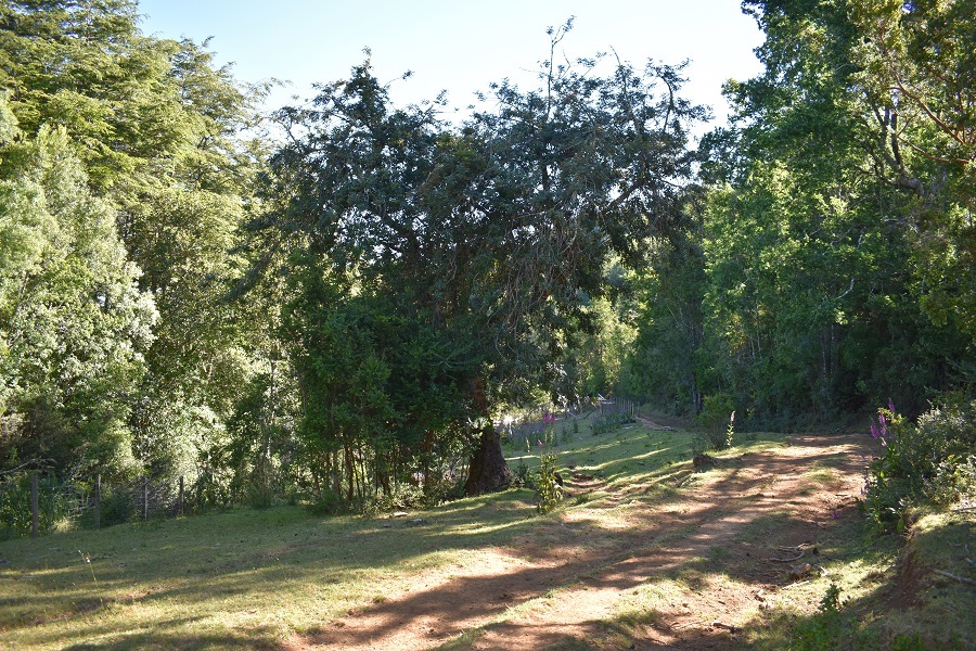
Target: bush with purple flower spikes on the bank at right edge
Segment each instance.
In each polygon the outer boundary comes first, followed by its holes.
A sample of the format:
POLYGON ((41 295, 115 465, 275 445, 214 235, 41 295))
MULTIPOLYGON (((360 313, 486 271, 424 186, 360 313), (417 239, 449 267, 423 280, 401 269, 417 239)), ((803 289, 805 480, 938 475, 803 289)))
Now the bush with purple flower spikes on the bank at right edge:
POLYGON ((878 409, 871 433, 884 454, 871 462, 864 486, 871 521, 883 531, 902 529, 909 507, 953 503, 976 497, 976 400, 947 396, 916 425, 878 409))

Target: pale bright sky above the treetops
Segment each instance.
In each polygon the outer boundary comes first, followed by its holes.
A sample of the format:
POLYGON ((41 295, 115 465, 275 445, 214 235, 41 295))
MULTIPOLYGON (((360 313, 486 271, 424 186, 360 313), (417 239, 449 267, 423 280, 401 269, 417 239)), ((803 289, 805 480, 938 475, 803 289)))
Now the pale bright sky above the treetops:
POLYGON ((534 87, 549 58, 547 27, 575 17, 557 56, 612 52, 640 68, 689 60, 684 95, 723 124, 721 87, 761 65, 762 34, 740 0, 140 0, 144 34, 211 38, 219 65, 245 82, 287 80, 268 108, 313 95, 311 84, 344 79, 372 51, 374 74, 398 104, 448 91, 463 115, 476 91, 508 78, 534 87), (400 77, 412 72, 409 79, 400 77))

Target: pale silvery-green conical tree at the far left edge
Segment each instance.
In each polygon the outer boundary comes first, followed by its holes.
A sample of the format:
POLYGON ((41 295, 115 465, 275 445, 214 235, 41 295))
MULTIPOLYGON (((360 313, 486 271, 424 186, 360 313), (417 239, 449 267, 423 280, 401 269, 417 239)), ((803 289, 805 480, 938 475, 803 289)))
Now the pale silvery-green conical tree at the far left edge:
POLYGON ((9 150, 0 179, 0 455, 131 470, 129 404, 157 312, 63 129, 9 150))

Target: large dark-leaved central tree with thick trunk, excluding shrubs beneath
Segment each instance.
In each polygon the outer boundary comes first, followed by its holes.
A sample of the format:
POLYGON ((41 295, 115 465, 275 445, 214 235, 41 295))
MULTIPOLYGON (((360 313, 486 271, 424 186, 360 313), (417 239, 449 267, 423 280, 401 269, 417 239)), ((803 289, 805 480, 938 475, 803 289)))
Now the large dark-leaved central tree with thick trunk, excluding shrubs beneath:
POLYGON ((497 409, 551 385, 593 321, 606 263, 638 264, 676 219, 685 129, 702 116, 675 68, 558 64, 563 34, 539 88, 492 86, 496 108, 458 129, 436 103, 393 107, 368 63, 282 112, 292 138, 274 168, 288 201, 268 224, 300 242, 306 295, 328 282, 389 297, 450 342, 423 363, 450 369, 462 400, 451 431, 472 446, 472 494, 506 481, 497 409))

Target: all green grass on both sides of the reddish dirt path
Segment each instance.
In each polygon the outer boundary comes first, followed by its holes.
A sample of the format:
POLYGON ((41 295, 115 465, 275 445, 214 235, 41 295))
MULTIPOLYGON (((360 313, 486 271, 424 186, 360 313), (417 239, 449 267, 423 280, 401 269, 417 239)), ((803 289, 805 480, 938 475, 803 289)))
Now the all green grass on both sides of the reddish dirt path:
MULTIPOLYGON (((425 573, 463 579, 468 567, 500 547, 526 562, 577 554, 602 559, 570 563, 575 570, 491 611, 444 647, 467 649, 498 626, 555 608, 566 590, 586 587, 638 551, 665 553, 696 535, 698 526, 683 523, 683 513, 703 489, 734 476, 737 465, 692 473, 693 438, 689 432, 644 427, 592 436, 587 422, 579 423, 578 434, 557 437, 552 449, 564 476, 594 478, 544 516, 536 514, 531 490, 514 489, 408 519, 323 518, 281 506, 0 542, 0 648, 277 649, 294 635, 316 635, 350 613, 388 605, 425 573), (412 522, 415 518, 421 522, 412 522), (658 520, 667 519, 671 525, 658 531, 658 520)), ((717 456, 786 445, 781 436, 755 438, 717 456)), ((538 456, 526 455, 524 447, 508 451, 512 467, 519 461, 538 467, 538 456)), ((812 462, 804 476, 818 489, 830 489, 840 465, 832 459, 812 462)), ((758 486, 736 503, 754 503, 762 490, 758 486)), ((789 518, 785 507, 755 518, 733 540, 767 545, 789 518)), ((894 537, 866 536, 858 516, 838 521, 819 542, 829 576, 782 590, 762 608, 758 601, 744 605, 739 640, 776 649, 814 639, 827 630, 817 605, 834 583, 844 603, 837 616, 848 636, 842 646, 871 648, 919 635, 937 646, 972 647, 973 588, 964 582, 933 579, 929 572, 909 586, 922 608, 889 616, 888 607, 907 558, 913 567, 973 578, 972 534, 969 513, 923 514, 901 548, 894 537)), ((735 562, 728 546, 703 545, 629 588, 592 639, 567 637, 556 648, 626 648, 676 610, 701 610, 704 622, 708 604, 695 601, 697 592, 750 589, 749 577, 730 570, 735 562)))

